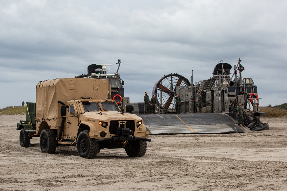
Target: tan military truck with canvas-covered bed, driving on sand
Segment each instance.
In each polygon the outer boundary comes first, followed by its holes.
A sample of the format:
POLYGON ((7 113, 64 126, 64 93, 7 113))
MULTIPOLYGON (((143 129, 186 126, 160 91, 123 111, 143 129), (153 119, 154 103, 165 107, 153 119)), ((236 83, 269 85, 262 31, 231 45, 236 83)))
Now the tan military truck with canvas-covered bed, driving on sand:
MULTIPOLYGON (((140 117, 122 112, 108 97, 108 81, 58 78, 36 86, 36 130, 20 134, 20 144, 40 136, 43 153, 58 145, 76 146, 79 156, 94 158, 103 148, 124 148, 130 157, 145 155, 149 131, 140 117), (22 135, 22 137, 21 137, 22 135), (29 136, 29 138, 27 138, 29 136), (29 139, 29 140, 30 140, 29 139)), ((21 128, 17 129, 21 130, 21 128)), ((22 146, 21 145, 21 146, 22 146)))

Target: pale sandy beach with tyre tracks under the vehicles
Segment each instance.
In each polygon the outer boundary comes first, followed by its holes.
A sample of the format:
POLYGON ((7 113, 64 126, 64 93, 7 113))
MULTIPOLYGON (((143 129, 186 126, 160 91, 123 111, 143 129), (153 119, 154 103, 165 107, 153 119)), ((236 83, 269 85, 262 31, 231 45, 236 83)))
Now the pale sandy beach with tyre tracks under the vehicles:
POLYGON ((149 136, 146 155, 102 149, 84 159, 76 147, 42 153, 19 144, 16 123, 0 116, 0 191, 26 190, 287 190, 287 119, 262 118, 269 130, 149 136))

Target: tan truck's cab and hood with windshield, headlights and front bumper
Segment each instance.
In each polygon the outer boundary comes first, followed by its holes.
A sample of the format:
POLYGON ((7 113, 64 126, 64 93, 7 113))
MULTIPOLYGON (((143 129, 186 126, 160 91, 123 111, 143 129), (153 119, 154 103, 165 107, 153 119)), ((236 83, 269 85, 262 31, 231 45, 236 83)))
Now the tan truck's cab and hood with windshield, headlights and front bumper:
POLYGON ((90 137, 101 142, 121 136, 117 128, 130 129, 129 136, 148 137, 149 134, 140 117, 122 112, 113 100, 71 100, 61 106, 62 110, 65 111, 62 113, 65 123, 61 137, 58 136, 60 144, 75 143, 77 135, 84 130, 90 131, 90 137))

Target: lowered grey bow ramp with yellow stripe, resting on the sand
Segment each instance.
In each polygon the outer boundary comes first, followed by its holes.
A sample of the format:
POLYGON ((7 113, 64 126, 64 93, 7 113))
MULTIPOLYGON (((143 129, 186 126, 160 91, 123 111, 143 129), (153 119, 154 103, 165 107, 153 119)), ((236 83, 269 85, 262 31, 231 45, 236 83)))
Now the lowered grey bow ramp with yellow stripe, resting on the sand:
POLYGON ((244 133, 237 121, 224 113, 139 115, 150 135, 244 133))

